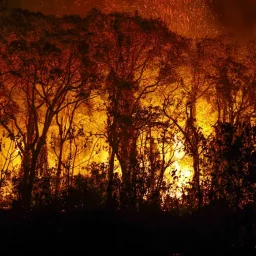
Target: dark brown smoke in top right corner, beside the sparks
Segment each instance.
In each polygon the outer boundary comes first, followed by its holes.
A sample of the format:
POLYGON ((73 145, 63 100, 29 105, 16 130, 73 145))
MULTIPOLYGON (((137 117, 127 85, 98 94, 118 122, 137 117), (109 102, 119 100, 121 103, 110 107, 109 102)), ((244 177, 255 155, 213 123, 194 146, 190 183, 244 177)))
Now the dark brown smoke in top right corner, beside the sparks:
POLYGON ((209 0, 220 25, 238 39, 256 38, 255 0, 209 0))

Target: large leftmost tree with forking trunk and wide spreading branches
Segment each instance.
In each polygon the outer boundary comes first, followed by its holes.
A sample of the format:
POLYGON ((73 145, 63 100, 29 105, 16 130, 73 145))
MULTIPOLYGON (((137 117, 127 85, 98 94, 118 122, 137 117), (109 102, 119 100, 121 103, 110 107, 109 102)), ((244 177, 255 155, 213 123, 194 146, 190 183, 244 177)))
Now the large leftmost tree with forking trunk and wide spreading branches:
POLYGON ((47 141, 53 118, 67 106, 90 95, 78 47, 61 49, 45 38, 7 42, 1 52, 5 61, 4 115, 1 126, 16 141, 22 158, 22 202, 31 204, 37 160, 47 141), (70 101, 66 102, 67 96, 70 101), (15 111, 8 109, 17 106, 15 111))

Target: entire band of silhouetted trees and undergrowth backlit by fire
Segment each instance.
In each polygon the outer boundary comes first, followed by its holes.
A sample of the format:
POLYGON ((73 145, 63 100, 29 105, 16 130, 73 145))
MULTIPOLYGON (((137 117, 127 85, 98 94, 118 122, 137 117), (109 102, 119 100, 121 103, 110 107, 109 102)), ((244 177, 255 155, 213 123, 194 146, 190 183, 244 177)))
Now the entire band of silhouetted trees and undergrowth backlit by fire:
POLYGON ((253 232, 256 42, 98 9, 0 24, 2 209, 222 209, 253 232))

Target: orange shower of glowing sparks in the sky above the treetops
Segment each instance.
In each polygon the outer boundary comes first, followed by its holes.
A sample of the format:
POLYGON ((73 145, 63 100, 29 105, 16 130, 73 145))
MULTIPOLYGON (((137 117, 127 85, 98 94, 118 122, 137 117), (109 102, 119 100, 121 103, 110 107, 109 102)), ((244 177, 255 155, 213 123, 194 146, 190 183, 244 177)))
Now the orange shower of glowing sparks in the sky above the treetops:
POLYGON ((214 37, 220 32, 206 0, 105 0, 98 7, 108 13, 139 11, 144 17, 162 19, 170 30, 191 38, 214 37))

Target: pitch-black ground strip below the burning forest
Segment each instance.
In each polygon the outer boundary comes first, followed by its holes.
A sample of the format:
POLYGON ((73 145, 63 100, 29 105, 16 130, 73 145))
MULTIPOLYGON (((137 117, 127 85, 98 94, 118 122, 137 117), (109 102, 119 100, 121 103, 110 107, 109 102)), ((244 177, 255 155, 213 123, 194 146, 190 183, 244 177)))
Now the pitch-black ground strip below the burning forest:
POLYGON ((175 217, 106 210, 2 211, 2 250, 59 255, 256 255, 228 216, 175 217), (249 251, 251 250, 251 252, 249 251), (153 254, 152 254, 153 253, 153 254))

